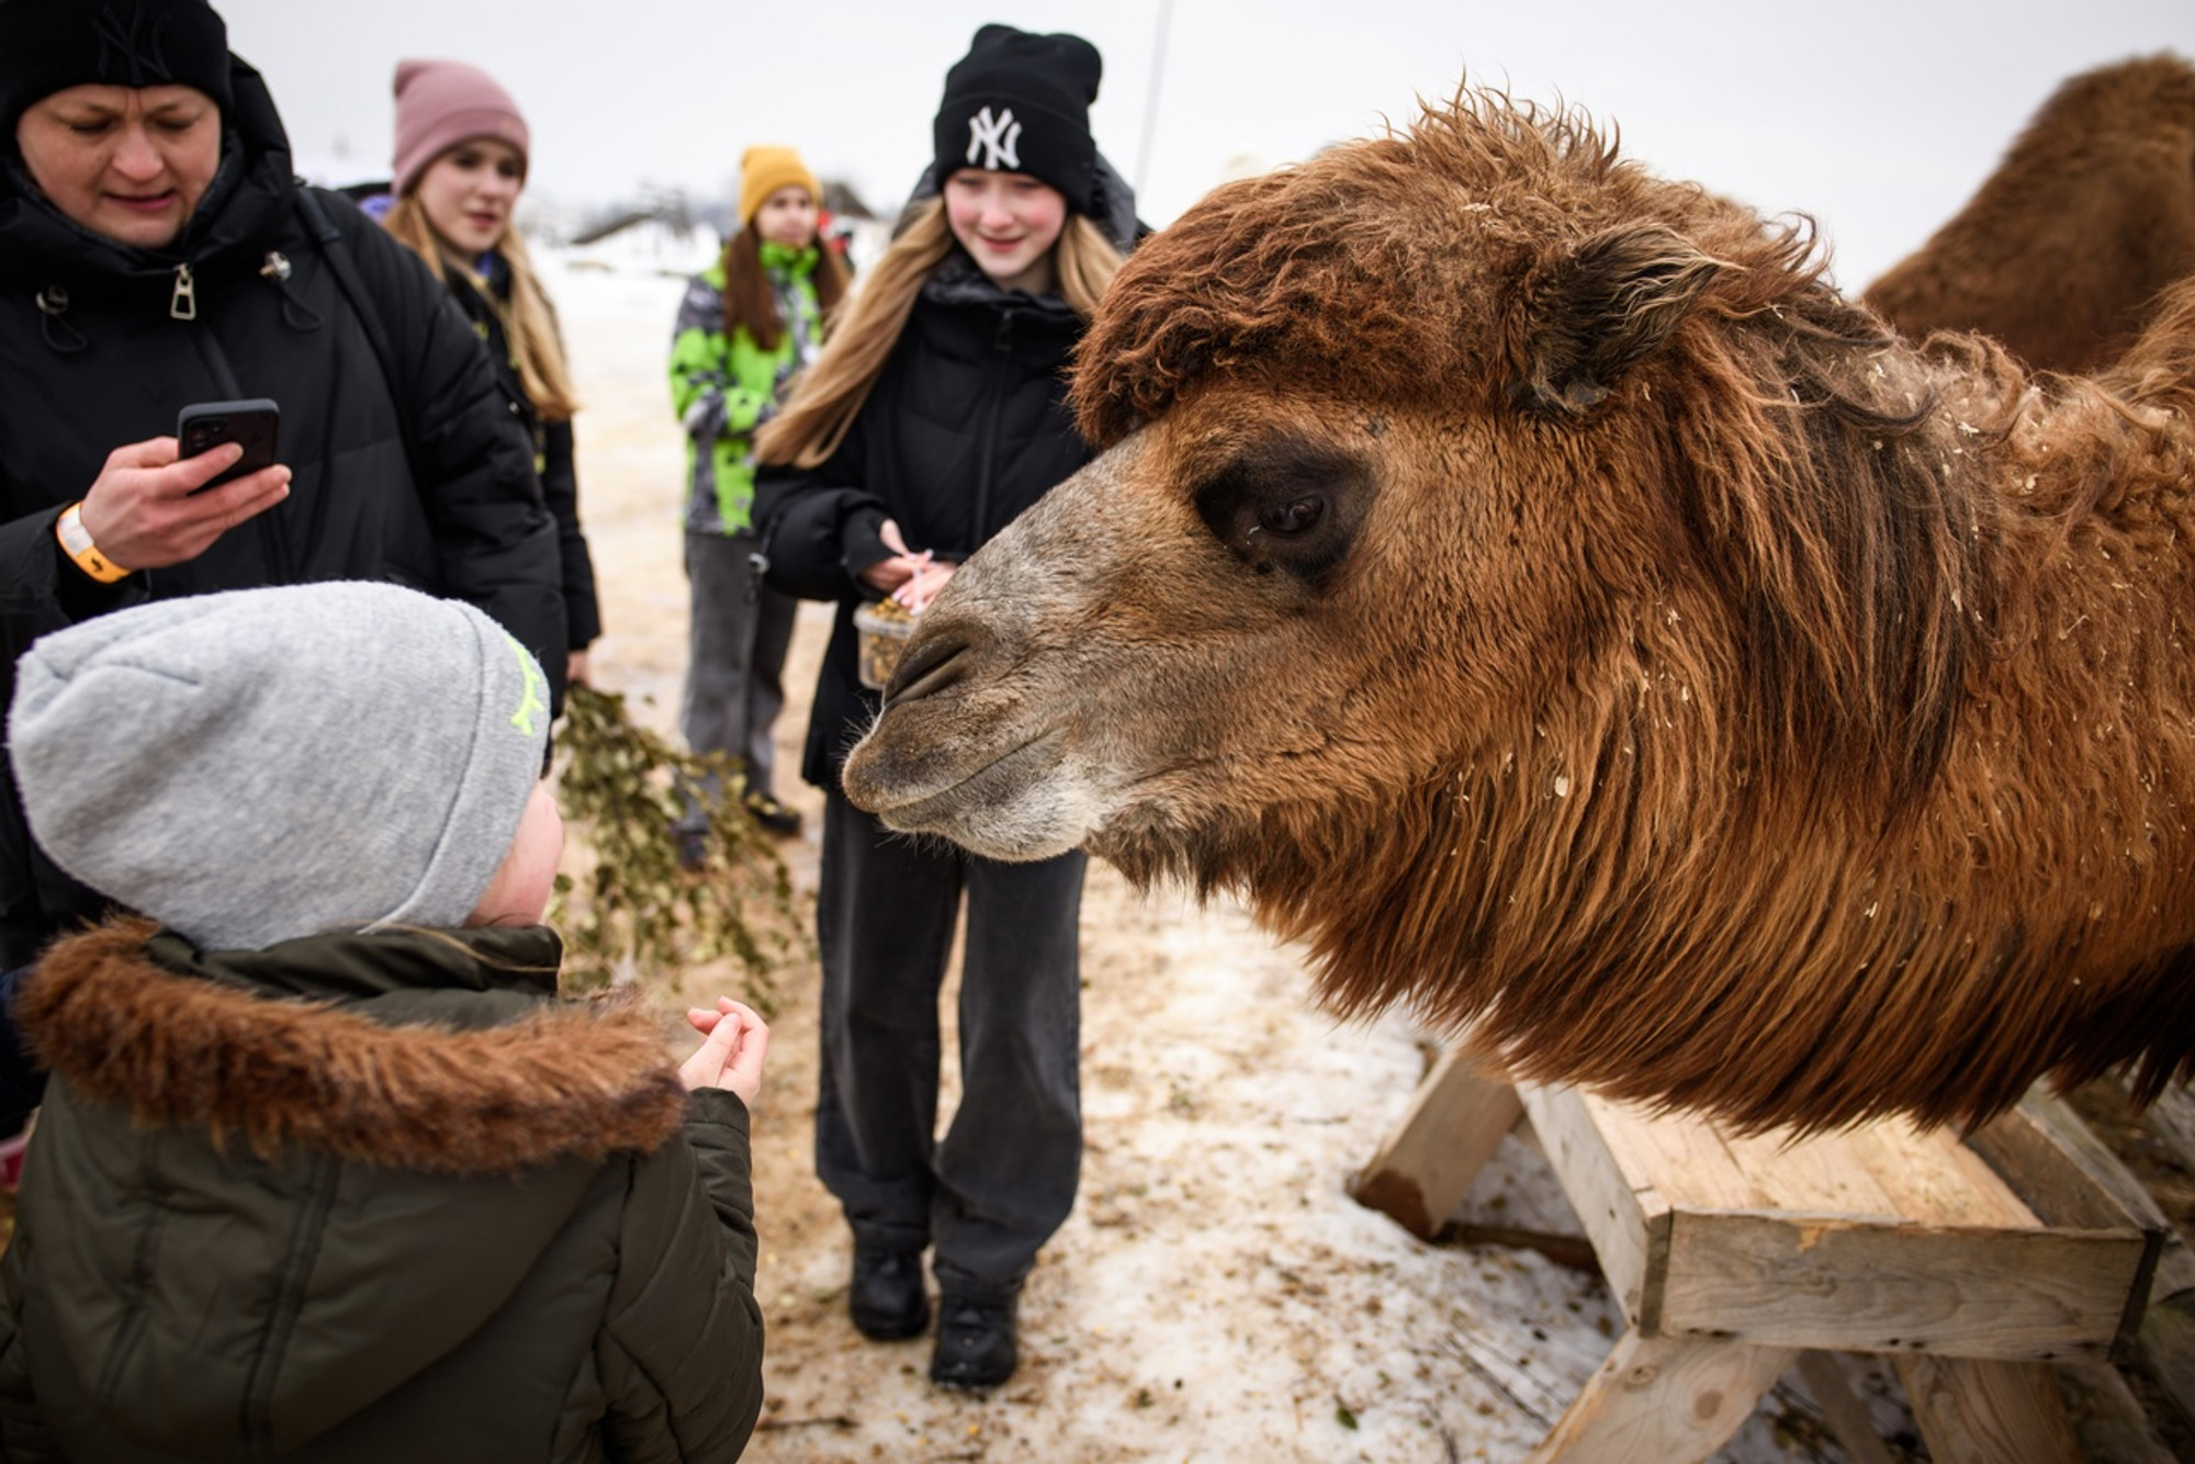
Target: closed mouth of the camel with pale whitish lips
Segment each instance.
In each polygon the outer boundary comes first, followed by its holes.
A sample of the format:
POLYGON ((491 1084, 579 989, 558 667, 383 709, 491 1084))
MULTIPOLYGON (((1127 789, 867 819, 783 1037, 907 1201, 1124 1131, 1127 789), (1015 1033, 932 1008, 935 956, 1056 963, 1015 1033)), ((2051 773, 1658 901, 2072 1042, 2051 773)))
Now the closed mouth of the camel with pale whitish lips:
POLYGON ((889 766, 878 766, 889 764, 891 753, 880 751, 871 733, 845 764, 845 792, 902 834, 942 834, 992 858, 1045 858, 1076 847, 1082 834, 1080 823, 1065 817, 1056 788, 1065 742, 1065 729, 1051 727, 942 788, 911 792, 889 766))

